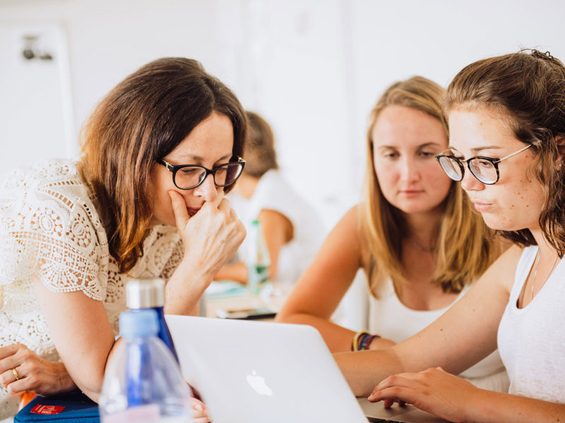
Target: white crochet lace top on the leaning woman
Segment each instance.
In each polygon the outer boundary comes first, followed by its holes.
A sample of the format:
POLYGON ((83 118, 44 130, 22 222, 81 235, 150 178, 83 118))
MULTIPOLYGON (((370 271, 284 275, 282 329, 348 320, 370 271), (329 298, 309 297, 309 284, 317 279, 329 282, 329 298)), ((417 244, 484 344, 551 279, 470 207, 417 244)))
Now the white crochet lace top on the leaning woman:
MULTIPOLYGON (((180 235, 157 226, 143 242, 143 257, 120 274, 95 204, 72 161, 45 161, 0 179, 0 346, 23 343, 47 360, 59 358, 33 275, 54 292, 82 291, 102 301, 117 335, 126 282, 167 279, 177 268, 180 235)), ((0 386, 0 419, 16 412, 17 400, 0 386)))

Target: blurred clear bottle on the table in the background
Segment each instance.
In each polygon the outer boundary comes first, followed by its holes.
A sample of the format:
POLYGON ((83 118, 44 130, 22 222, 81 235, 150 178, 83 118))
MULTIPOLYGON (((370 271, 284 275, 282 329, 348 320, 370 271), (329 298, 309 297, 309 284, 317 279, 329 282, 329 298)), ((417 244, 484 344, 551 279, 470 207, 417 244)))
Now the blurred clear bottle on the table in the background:
POLYGON ((249 240, 247 287, 252 294, 258 294, 268 282, 270 266, 269 250, 258 220, 251 223, 249 240))

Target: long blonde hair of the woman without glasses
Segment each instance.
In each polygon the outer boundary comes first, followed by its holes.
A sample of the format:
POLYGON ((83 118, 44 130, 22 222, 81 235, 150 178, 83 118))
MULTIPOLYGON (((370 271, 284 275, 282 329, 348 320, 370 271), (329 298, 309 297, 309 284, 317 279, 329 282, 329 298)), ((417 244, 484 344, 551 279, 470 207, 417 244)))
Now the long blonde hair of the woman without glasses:
MULTIPOLYGON (((448 133, 441 100, 444 89, 435 82, 415 76, 396 82, 383 93, 369 118, 367 164, 362 202, 359 205, 359 233, 369 250, 367 281, 377 296, 379 284, 392 278, 397 293, 405 276, 401 264, 403 239, 408 236, 403 214, 384 197, 376 179, 373 162, 372 130, 387 106, 397 105, 424 111, 436 118, 448 133)), ((439 166, 439 165, 438 165, 439 166)), ((432 283, 444 292, 459 293, 472 283, 499 255, 492 231, 481 216, 472 211, 460 184, 452 183, 444 200, 444 215, 439 223, 436 268, 432 283)))

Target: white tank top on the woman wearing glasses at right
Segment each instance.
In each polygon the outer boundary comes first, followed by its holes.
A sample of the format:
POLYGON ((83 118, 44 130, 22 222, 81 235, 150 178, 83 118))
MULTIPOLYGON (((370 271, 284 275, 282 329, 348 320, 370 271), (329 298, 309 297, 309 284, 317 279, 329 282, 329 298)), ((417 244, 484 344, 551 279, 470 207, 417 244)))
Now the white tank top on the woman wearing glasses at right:
POLYGON ((500 321, 500 355, 510 378, 509 393, 565 403, 565 266, 561 260, 535 298, 516 302, 537 247, 524 249, 509 303, 500 321))

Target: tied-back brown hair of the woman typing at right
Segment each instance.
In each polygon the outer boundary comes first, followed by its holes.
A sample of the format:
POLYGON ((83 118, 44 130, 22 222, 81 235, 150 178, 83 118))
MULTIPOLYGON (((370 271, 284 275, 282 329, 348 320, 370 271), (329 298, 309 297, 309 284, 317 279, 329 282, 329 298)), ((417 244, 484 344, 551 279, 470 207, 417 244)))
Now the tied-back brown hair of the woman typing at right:
MULTIPOLYGON (((524 49, 471 63, 447 90, 446 110, 492 107, 504 114, 518 140, 537 152, 535 177, 545 196, 539 223, 547 241, 565 254, 565 182, 555 171, 556 137, 565 137, 565 66, 549 52, 524 49)), ((521 246, 536 245, 529 229, 500 231, 521 246)))

